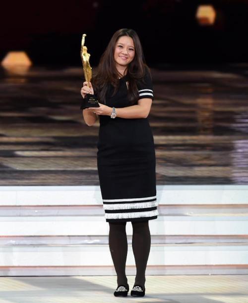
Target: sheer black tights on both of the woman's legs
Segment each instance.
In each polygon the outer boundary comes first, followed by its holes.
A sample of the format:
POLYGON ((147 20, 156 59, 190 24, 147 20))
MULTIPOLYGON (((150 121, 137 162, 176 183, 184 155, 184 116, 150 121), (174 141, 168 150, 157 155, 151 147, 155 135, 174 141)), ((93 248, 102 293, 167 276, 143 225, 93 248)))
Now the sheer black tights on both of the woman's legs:
MULTIPOLYGON (((127 286, 125 263, 127 255, 126 222, 110 223, 109 247, 115 270, 117 284, 127 286)), ((147 221, 132 222, 132 251, 136 264, 135 285, 145 285, 145 270, 151 247, 151 235, 147 221)))

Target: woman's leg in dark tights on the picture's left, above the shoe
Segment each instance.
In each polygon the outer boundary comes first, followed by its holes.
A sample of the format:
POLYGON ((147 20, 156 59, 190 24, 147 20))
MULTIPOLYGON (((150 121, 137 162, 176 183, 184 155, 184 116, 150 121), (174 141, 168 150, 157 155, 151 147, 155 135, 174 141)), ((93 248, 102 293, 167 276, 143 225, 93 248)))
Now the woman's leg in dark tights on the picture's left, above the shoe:
POLYGON ((109 247, 117 273, 118 286, 127 286, 127 278, 125 275, 125 263, 127 255, 127 238, 125 226, 126 222, 109 222, 109 247))

